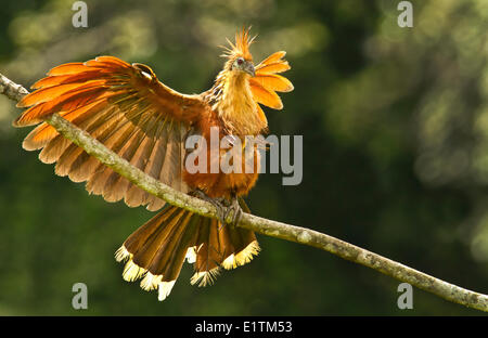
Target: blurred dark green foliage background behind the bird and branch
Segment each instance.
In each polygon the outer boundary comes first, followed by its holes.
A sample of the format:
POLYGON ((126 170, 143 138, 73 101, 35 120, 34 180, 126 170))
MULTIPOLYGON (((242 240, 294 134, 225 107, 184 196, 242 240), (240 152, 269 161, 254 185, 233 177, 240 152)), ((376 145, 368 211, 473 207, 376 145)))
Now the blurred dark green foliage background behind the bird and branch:
MULTIPOLYGON (((274 134, 304 135, 304 180, 262 174, 254 213, 307 226, 450 283, 488 292, 488 2, 4 1, 0 73, 30 86, 51 67, 111 54, 150 65, 178 91, 208 89, 219 44, 253 25, 256 61, 286 50, 295 91, 266 110, 274 134)), ((0 315, 476 315, 328 252, 259 236, 261 253, 211 287, 183 266, 171 296, 126 283, 114 251, 152 217, 107 204, 22 150, 21 113, 0 96, 0 315), (88 310, 72 286, 88 286, 88 310)))

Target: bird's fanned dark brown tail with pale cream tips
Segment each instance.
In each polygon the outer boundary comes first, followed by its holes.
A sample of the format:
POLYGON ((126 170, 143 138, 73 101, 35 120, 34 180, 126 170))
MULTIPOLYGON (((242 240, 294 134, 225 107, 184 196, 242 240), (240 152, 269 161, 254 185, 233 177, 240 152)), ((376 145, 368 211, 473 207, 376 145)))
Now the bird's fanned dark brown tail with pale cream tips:
MULTIPOLYGON (((247 209, 248 210, 248 209, 247 209)), ((127 261, 123 277, 139 278, 145 290, 158 289, 158 299, 170 294, 184 260, 193 263, 191 284, 213 284, 220 268, 233 269, 249 262, 259 251, 253 232, 167 206, 132 233, 116 251, 127 261)))

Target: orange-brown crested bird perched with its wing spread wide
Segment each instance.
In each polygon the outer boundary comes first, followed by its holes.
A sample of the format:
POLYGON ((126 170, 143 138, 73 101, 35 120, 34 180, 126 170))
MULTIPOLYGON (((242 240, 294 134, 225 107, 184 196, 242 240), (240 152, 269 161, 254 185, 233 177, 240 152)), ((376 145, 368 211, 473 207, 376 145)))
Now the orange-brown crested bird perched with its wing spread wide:
POLYGON ((124 200, 129 207, 157 211, 124 242, 115 259, 125 263, 125 281, 140 280, 144 290, 157 290, 158 300, 169 296, 184 261, 194 268, 191 284, 206 286, 222 269, 246 264, 260 251, 255 233, 236 226, 242 212, 251 212, 244 197, 259 174, 258 146, 246 152, 245 138, 269 132, 261 106, 282 109, 277 92, 294 87, 281 75, 291 69, 286 52, 274 52, 255 65, 249 48, 255 40, 251 27, 237 29, 234 42, 227 39, 223 68, 211 88, 200 94, 167 87, 147 65, 104 55, 53 67, 17 103, 25 110, 12 125, 36 126, 23 147, 40 150, 42 162, 55 162, 55 174, 86 182, 88 193, 106 202, 124 200), (213 203, 219 217, 206 218, 144 192, 47 123, 44 119, 53 114, 146 174, 213 203), (188 170, 184 161, 191 154, 196 162, 207 160, 207 167, 228 156, 226 148, 211 153, 200 144, 187 147, 190 136, 210 142, 213 130, 220 141, 242 141, 237 155, 244 161, 251 158, 252 172, 188 170), (231 213, 232 222, 226 224, 231 213))

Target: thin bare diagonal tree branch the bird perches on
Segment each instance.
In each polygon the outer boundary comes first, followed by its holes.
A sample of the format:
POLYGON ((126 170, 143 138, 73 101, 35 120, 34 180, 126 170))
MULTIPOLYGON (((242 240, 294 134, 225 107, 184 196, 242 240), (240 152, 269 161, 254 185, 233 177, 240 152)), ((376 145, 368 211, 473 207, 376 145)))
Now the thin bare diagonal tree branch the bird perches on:
MULTIPOLYGON (((3 93, 14 101, 20 101, 28 93, 28 91, 0 74, 0 93, 3 93)), ((102 143, 91 138, 89 133, 72 125, 57 114, 47 118, 46 121, 53 126, 62 135, 82 147, 88 154, 92 155, 102 164, 112 168, 147 193, 157 196, 171 205, 195 213, 217 218, 217 210, 208 202, 172 190, 168 185, 145 174, 124 158, 118 157, 102 143)), ((229 221, 230 218, 231 216, 229 216, 229 221)), ((461 288, 317 231, 264 219, 249 213, 243 213, 239 226, 271 237, 286 239, 329 251, 343 259, 374 269, 398 281, 409 283, 446 300, 488 312, 487 295, 461 288)))

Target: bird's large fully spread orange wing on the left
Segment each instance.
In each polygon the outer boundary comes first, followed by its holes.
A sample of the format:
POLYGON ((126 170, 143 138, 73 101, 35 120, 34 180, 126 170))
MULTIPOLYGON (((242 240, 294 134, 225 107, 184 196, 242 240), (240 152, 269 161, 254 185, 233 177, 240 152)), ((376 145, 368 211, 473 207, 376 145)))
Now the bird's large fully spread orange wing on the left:
POLYGON ((208 114, 198 95, 178 93, 159 82, 152 69, 117 57, 57 66, 33 86, 18 107, 30 107, 13 125, 38 125, 24 140, 27 151, 40 150, 41 161, 56 162, 55 172, 107 202, 124 199, 130 207, 157 210, 165 202, 130 183, 84 150, 60 135, 43 118, 59 113, 89 132, 120 157, 174 188, 182 181, 184 136, 208 114))

